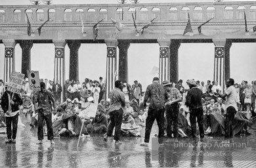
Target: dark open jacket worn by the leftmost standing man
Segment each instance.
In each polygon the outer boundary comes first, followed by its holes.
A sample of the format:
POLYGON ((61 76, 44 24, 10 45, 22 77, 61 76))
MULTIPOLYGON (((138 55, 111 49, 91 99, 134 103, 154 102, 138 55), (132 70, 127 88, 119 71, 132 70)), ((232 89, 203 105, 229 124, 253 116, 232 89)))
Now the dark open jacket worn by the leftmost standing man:
MULTIPOLYGON (((14 96, 12 98, 12 101, 14 102, 14 104, 11 105, 11 109, 12 109, 12 112, 16 112, 20 109, 19 106, 22 105, 22 98, 17 93, 11 93, 11 97, 13 94, 14 94, 14 96)), ((1 107, 5 113, 9 109, 9 100, 8 100, 7 91, 5 91, 5 93, 3 93, 1 107)))

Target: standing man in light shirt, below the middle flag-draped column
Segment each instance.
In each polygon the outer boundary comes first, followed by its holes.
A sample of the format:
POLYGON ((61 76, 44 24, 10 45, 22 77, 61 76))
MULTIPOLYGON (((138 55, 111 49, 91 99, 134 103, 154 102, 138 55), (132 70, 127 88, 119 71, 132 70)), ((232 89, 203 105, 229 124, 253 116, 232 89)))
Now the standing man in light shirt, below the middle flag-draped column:
POLYGON ((110 115, 110 123, 108 129, 104 135, 104 140, 107 141, 108 137, 112 136, 113 129, 115 127, 114 140, 115 144, 121 144, 121 123, 123 119, 123 108, 125 107, 125 95, 121 91, 123 89, 123 83, 119 80, 115 82, 115 89, 110 91, 110 108, 108 113, 110 115))

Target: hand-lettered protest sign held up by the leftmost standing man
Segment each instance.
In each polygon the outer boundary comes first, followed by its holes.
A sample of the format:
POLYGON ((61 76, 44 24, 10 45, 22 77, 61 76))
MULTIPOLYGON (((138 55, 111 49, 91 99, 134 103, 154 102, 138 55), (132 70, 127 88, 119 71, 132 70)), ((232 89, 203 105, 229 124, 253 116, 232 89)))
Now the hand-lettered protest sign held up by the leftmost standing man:
POLYGON ((8 83, 7 91, 11 91, 13 93, 20 93, 20 89, 22 89, 22 83, 24 81, 24 74, 20 74, 18 72, 12 72, 10 76, 10 80, 8 83))

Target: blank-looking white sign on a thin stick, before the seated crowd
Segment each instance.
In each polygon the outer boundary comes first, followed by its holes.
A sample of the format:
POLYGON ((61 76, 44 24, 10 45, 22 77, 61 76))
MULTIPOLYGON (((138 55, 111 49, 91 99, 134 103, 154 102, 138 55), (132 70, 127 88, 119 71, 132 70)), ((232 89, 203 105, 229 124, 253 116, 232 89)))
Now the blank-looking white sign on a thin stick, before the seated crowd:
POLYGON ((95 117, 97 108, 98 104, 96 103, 84 102, 82 103, 82 111, 80 112, 79 116, 95 117))

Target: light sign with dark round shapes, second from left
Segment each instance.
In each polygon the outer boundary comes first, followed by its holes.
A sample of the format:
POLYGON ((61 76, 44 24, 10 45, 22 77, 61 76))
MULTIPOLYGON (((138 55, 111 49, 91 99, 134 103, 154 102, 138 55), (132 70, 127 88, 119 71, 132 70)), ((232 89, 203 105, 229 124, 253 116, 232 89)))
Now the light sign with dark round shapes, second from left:
POLYGON ((40 79, 39 72, 27 70, 28 82, 30 83, 30 89, 33 91, 40 91, 40 79))

